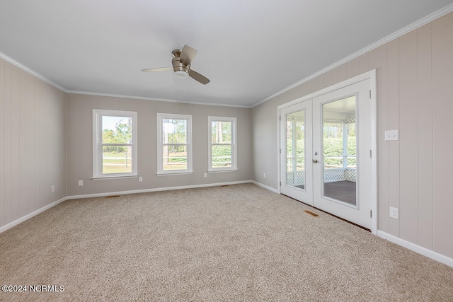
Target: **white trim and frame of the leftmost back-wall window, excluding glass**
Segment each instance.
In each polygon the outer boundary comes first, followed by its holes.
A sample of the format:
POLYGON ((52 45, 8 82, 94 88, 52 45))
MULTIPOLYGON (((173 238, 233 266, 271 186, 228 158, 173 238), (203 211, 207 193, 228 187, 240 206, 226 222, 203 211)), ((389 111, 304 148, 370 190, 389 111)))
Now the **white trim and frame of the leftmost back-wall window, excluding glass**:
POLYGON ((136 177, 137 173, 137 112, 124 110, 93 109, 93 180, 136 177), (102 173, 102 117, 132 117, 132 172, 102 173))

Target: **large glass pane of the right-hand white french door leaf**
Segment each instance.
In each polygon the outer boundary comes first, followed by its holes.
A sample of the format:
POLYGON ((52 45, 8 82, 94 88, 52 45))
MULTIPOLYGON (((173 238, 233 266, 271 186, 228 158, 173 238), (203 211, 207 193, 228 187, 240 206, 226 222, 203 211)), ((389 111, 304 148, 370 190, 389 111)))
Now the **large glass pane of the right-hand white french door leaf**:
POLYGON ((323 105, 323 196, 357 206, 355 95, 323 105))

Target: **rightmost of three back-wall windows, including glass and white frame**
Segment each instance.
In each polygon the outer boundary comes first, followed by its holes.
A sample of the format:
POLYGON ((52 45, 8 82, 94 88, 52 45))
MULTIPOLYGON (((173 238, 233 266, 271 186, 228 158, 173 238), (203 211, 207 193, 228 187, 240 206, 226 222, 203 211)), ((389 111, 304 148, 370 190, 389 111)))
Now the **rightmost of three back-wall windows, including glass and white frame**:
POLYGON ((237 170, 236 117, 208 117, 211 172, 237 170))

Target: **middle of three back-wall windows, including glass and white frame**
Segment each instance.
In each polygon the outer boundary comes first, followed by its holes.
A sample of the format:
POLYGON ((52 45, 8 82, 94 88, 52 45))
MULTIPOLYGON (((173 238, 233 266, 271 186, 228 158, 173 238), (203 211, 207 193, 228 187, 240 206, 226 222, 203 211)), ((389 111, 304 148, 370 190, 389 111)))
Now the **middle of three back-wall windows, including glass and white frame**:
POLYGON ((192 115, 157 114, 157 174, 192 173, 192 115))

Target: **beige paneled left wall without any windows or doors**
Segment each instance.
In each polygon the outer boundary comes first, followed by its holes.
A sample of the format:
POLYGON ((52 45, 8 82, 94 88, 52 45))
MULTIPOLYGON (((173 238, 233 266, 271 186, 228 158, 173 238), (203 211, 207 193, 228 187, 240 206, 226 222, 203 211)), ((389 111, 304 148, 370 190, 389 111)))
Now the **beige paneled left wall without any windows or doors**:
POLYGON ((3 59, 0 171, 0 227, 67 195, 66 94, 3 59))

